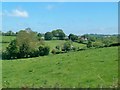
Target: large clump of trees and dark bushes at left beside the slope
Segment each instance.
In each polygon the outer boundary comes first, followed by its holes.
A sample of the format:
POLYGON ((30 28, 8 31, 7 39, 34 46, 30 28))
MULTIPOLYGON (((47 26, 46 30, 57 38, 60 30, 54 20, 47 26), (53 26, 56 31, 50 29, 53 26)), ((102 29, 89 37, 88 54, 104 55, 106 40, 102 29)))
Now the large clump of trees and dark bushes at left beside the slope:
POLYGON ((39 43, 32 30, 21 30, 2 53, 2 59, 28 58, 48 55, 50 48, 39 43), (39 47, 38 47, 39 45, 39 47), (42 45, 42 47, 41 47, 42 45))

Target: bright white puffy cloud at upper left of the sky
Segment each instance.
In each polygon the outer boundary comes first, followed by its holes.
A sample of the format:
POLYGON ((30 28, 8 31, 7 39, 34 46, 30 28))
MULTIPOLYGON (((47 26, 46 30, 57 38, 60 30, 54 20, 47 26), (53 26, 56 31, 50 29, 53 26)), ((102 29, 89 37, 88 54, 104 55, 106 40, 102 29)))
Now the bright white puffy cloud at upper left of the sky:
POLYGON ((19 10, 19 9, 12 10, 11 12, 8 12, 7 10, 5 10, 3 15, 13 16, 13 17, 23 17, 23 18, 26 18, 29 16, 27 11, 19 10))

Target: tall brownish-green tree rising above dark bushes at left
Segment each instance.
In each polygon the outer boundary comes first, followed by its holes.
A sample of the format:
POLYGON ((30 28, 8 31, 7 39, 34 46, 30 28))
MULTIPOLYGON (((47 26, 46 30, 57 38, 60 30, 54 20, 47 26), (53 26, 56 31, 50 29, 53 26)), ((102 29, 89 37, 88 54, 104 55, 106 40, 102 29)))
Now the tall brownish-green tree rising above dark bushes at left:
POLYGON ((35 51, 37 48, 37 34, 31 29, 19 31, 16 39, 19 46, 19 58, 29 57, 30 52, 35 51))

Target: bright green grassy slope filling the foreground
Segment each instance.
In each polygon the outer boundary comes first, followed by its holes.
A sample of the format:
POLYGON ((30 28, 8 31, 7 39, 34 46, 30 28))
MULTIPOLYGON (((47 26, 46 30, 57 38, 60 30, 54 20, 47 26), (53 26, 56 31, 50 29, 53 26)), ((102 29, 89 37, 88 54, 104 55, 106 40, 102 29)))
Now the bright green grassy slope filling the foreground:
POLYGON ((117 47, 3 61, 3 87, 108 87, 117 82, 117 47), (114 77, 114 79, 113 79, 114 77))

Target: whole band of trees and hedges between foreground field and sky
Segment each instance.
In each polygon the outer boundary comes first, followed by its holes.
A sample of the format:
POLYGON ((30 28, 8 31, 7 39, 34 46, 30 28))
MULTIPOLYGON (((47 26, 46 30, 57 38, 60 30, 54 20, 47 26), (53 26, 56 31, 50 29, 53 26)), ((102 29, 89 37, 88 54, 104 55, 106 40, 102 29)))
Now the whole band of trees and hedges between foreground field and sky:
MULTIPOLYGON (((2 33, 2 32, 1 32, 2 33)), ((64 53, 68 51, 83 50, 79 47, 72 46, 72 42, 85 44, 87 48, 103 48, 109 46, 119 46, 117 35, 96 35, 85 34, 78 36, 70 33, 68 36, 62 29, 56 29, 45 34, 33 32, 31 28, 20 30, 17 33, 8 31, 1 34, 5 36, 16 36, 16 39, 11 41, 5 51, 2 52, 2 59, 28 58, 48 55, 50 47, 46 46, 45 40, 66 40, 62 47, 56 46, 51 51, 53 54, 64 53)))

